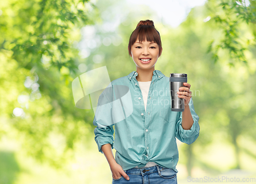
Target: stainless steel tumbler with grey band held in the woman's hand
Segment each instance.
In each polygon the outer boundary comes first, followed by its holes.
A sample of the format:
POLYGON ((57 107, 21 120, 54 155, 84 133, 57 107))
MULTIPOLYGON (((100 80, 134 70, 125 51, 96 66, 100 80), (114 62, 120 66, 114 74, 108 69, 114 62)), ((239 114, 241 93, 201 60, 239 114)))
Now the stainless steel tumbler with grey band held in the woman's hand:
POLYGON ((183 83, 187 82, 187 74, 185 73, 170 73, 170 103, 171 110, 176 112, 184 111, 184 99, 178 97, 177 92, 183 83))

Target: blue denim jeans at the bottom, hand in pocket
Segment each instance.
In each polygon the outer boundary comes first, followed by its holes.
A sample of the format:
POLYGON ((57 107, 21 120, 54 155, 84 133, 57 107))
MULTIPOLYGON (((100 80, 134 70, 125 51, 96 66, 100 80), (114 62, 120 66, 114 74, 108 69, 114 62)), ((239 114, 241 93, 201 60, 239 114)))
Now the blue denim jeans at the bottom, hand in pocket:
POLYGON ((134 184, 177 184, 177 172, 173 169, 161 167, 159 165, 148 168, 132 168, 124 171, 129 180, 121 176, 118 179, 112 178, 112 184, 114 183, 134 183, 134 184))

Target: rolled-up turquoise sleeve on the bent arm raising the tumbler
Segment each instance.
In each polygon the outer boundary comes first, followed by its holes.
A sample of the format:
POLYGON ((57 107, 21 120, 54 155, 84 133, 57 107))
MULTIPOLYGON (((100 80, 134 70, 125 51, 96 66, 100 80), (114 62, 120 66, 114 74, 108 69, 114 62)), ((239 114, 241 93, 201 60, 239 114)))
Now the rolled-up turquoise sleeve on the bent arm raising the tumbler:
POLYGON ((199 136, 199 130, 200 130, 200 126, 198 123, 199 116, 195 112, 192 98, 190 99, 188 105, 189 105, 189 109, 190 109, 191 115, 193 117, 194 123, 190 129, 183 129, 183 127, 182 127, 182 112, 180 112, 180 116, 179 116, 179 119, 178 119, 178 121, 176 123, 176 127, 175 127, 175 137, 177 137, 177 139, 179 139, 183 143, 192 144, 193 142, 196 141, 196 139, 199 136))

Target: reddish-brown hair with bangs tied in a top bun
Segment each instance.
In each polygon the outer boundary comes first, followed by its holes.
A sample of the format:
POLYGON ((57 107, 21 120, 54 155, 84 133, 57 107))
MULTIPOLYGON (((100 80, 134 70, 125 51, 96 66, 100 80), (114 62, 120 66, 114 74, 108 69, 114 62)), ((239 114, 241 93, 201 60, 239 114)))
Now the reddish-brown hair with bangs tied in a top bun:
POLYGON ((128 44, 128 50, 129 55, 131 56, 131 48, 132 45, 136 42, 137 38, 139 38, 139 42, 145 41, 145 38, 147 41, 155 42, 159 46, 159 55, 162 52, 162 42, 160 33, 156 30, 154 22, 152 20, 141 20, 138 24, 136 29, 133 31, 133 33, 130 36, 129 44, 128 44))

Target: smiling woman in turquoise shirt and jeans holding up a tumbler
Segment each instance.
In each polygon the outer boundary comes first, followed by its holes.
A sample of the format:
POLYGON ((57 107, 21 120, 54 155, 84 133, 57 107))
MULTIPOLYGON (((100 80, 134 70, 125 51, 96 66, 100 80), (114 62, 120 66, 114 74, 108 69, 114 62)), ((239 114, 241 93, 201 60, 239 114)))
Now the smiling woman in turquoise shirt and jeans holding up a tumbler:
POLYGON ((171 111, 169 77, 155 70, 162 45, 152 20, 138 23, 128 50, 136 72, 114 80, 101 93, 94 118, 95 141, 108 160, 113 183, 177 183, 176 138, 191 144, 200 129, 190 84, 184 83, 186 87, 178 92, 184 98, 184 111, 171 111))

